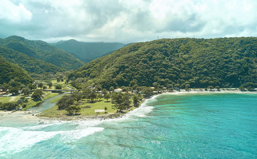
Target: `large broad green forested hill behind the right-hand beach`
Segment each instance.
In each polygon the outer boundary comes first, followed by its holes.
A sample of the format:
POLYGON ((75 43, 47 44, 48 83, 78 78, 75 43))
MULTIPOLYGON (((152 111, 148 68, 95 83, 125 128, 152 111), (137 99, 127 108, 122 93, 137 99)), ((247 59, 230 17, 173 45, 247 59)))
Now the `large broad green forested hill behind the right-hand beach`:
POLYGON ((103 88, 155 82, 180 88, 256 86, 256 55, 256 37, 159 39, 95 59, 69 78, 103 88))

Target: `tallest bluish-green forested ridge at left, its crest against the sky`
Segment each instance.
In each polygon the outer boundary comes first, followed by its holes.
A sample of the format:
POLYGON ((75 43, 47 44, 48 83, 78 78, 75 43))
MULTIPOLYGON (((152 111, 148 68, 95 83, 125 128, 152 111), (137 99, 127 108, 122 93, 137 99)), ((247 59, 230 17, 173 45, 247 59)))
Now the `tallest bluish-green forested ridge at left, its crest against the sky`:
POLYGON ((77 69, 83 65, 78 58, 43 41, 29 41, 20 36, 9 36, 0 39, 0 46, 67 70, 77 69))

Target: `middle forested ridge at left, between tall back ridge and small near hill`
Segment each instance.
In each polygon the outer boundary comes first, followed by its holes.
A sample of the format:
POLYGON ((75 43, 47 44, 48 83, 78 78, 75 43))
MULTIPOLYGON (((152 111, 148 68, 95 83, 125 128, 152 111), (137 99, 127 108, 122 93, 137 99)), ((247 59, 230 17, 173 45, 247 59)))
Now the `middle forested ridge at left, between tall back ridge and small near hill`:
POLYGON ((53 64, 46 63, 40 59, 29 57, 28 55, 14 51, 12 49, 0 47, 0 55, 5 57, 7 61, 17 64, 30 73, 44 73, 44 72, 62 72, 64 69, 53 64))

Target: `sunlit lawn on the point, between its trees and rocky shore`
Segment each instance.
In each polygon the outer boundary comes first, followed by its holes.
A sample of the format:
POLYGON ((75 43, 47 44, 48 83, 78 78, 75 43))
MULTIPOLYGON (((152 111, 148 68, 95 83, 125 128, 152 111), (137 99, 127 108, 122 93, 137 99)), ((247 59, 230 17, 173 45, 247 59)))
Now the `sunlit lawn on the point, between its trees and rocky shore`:
MULTIPOLYGON (((104 109, 104 107, 107 107, 107 113, 104 112, 100 112, 99 115, 103 115, 103 114, 112 114, 115 113, 117 110, 113 109, 112 106, 114 104, 112 104, 111 102, 106 102, 106 100, 102 99, 100 102, 95 102, 95 103, 91 103, 89 101, 80 101, 83 104, 80 105, 81 107, 81 116, 88 116, 88 115, 96 115, 97 113, 95 113, 96 109, 104 109), (90 108, 83 108, 85 106, 90 106, 90 108)), ((58 106, 54 106, 50 109, 47 109, 45 111, 43 111, 40 116, 47 116, 47 117, 60 117, 60 116, 64 116, 67 115, 68 112, 65 110, 58 110, 58 106)))

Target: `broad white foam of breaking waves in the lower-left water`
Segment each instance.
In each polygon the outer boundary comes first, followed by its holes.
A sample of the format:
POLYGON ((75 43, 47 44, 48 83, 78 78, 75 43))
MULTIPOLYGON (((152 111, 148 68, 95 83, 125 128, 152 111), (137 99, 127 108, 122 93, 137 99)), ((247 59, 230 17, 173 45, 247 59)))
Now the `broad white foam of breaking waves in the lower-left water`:
MULTIPOLYGON (((53 124, 50 124, 53 125, 53 124)), ((49 125, 45 125, 49 126, 49 125)), ((33 127, 33 126, 32 126, 33 127)), ((33 129, 28 127, 29 129, 33 129)), ((44 126, 34 126, 35 129, 43 128, 44 126)), ((0 138, 0 156, 8 153, 17 153, 26 148, 32 147, 34 144, 41 141, 49 140, 50 138, 61 135, 62 143, 69 143, 79 140, 95 132, 103 131, 101 127, 87 127, 85 129, 76 129, 69 131, 26 131, 21 128, 0 127, 0 133, 7 131, 5 135, 0 138)))

